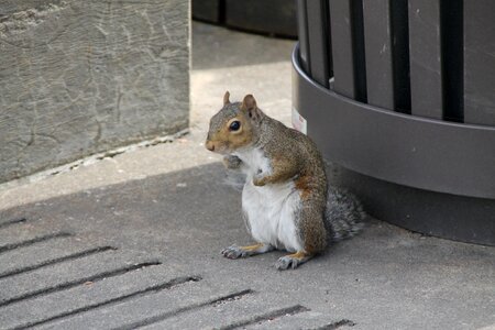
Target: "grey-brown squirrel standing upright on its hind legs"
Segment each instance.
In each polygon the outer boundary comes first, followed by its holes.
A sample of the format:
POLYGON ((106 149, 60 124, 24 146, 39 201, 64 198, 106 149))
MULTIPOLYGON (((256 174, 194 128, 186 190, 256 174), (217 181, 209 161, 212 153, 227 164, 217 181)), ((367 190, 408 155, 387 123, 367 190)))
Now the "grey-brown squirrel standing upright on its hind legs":
POLYGON ((210 120, 205 146, 224 155, 229 169, 246 175, 242 189, 244 223, 255 244, 232 245, 221 254, 246 257, 273 250, 277 270, 296 268, 332 242, 362 228, 365 213, 354 196, 329 187, 323 158, 305 134, 266 116, 252 95, 230 102, 210 120))

